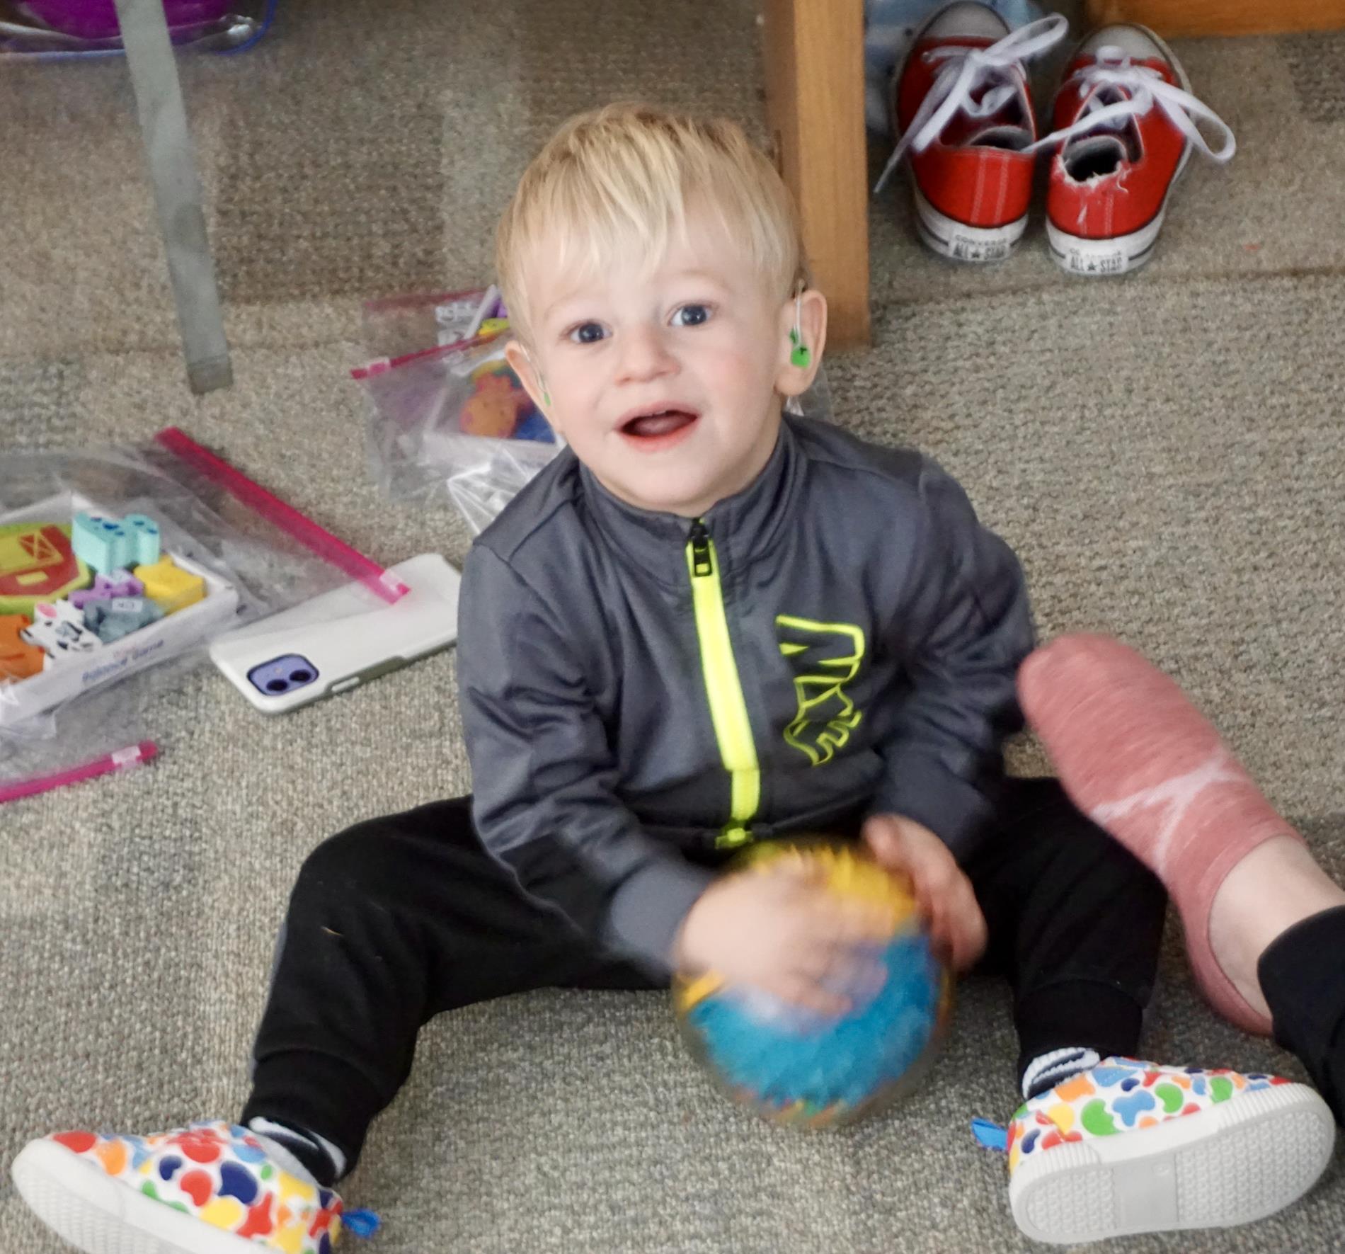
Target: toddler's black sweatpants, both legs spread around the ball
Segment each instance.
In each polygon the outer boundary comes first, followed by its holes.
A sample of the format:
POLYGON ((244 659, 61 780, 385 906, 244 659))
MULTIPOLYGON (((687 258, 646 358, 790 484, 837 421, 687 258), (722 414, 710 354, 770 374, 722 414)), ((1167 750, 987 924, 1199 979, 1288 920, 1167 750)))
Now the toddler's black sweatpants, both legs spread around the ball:
MULTIPOLYGON (((707 848, 703 861, 724 858, 707 848)), ((966 871, 989 927, 981 967, 1014 992, 1020 1074, 1068 1045, 1132 1055, 1162 936, 1158 880, 1053 779, 1009 780, 966 871)), ((352 1168, 426 1020, 547 986, 656 985, 525 896, 468 798, 359 823, 319 845, 295 884, 243 1122, 319 1133, 352 1168)))

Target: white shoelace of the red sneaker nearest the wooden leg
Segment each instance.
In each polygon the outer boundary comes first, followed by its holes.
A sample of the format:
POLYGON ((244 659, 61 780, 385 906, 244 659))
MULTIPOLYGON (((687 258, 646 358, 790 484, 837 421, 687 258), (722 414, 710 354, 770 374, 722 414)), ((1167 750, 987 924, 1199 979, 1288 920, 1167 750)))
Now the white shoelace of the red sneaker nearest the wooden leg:
POLYGON ((924 152, 956 113, 966 113, 967 117, 993 117, 998 113, 1021 90, 1015 75, 1022 67, 1021 63, 1059 43, 1068 28, 1068 19, 1052 13, 1049 17, 1029 22, 1017 31, 1010 31, 998 43, 985 48, 947 44, 923 52, 925 61, 943 61, 946 65, 935 75, 916 116, 911 118, 911 125, 892 149, 892 156, 888 157, 888 164, 874 184, 874 192, 882 191, 908 149, 924 152), (995 86, 991 86, 978 104, 972 93, 987 83, 995 86))

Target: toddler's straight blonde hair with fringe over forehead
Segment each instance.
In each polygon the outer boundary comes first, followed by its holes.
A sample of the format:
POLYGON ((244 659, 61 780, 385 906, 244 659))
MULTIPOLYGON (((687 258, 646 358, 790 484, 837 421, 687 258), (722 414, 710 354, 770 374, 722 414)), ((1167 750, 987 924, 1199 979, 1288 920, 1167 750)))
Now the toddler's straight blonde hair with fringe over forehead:
POLYGON ((527 264, 545 235, 562 268, 601 270, 632 246, 656 265, 685 226, 689 202, 718 217, 781 300, 807 284, 794 199, 741 126, 607 105, 561 126, 523 171, 500 219, 495 270, 519 334, 527 338, 533 312, 527 264))

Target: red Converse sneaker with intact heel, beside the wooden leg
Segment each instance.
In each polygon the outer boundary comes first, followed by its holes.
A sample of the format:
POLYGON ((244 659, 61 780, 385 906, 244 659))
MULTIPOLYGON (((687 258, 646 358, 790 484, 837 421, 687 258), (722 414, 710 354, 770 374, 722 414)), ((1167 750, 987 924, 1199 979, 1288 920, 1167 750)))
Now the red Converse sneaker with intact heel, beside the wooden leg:
POLYGON ((1028 225, 1037 120, 1022 63, 1057 43, 1059 13, 1010 32, 985 4, 950 4, 893 78, 900 136, 874 191, 911 155, 920 238, 956 261, 999 261, 1028 225))

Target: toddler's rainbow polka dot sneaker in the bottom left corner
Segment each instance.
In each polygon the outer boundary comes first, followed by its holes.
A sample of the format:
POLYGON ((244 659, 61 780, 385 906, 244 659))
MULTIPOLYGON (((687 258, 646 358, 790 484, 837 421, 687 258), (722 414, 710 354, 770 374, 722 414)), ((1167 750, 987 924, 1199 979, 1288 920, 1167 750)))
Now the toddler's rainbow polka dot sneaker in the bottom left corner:
POLYGON ((343 1228, 336 1193, 229 1123, 59 1132, 30 1141, 11 1173, 38 1218, 85 1254, 332 1254, 343 1228))

